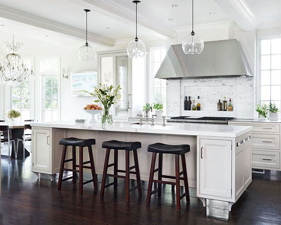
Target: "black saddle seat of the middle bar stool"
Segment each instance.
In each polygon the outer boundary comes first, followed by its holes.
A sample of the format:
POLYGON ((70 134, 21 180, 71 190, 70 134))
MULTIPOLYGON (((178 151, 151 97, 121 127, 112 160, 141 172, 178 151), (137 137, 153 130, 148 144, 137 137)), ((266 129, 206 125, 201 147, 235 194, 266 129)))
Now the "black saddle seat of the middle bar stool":
POLYGON ((109 149, 132 151, 140 147, 142 147, 142 143, 140 143, 139 141, 125 142, 125 141, 111 140, 111 141, 102 142, 102 148, 109 148, 109 149))

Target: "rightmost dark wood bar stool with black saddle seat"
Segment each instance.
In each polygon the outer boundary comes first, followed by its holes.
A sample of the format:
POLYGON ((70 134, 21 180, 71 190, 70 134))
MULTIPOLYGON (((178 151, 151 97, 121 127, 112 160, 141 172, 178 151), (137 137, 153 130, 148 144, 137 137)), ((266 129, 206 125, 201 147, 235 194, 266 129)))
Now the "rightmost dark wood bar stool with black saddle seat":
POLYGON ((148 152, 152 152, 151 167, 149 173, 148 191, 146 198, 146 205, 150 205, 151 195, 158 192, 158 197, 161 197, 162 184, 171 184, 176 186, 176 204, 177 210, 180 210, 180 199, 185 196, 186 202, 190 202, 188 173, 186 171, 185 153, 190 152, 190 146, 188 144, 170 145, 163 143, 154 143, 148 145, 148 152), (158 168, 155 169, 156 155, 158 157, 158 168), (162 161, 163 154, 175 155, 175 176, 168 176, 162 174, 162 161), (179 171, 179 156, 181 156, 182 171, 179 171), (158 179, 154 180, 154 173, 158 171, 158 179), (180 177, 183 175, 183 177, 180 177), (175 182, 162 181, 162 178, 175 179, 175 182), (180 195, 180 180, 184 182, 185 192, 180 195), (152 191, 152 184, 157 183, 157 188, 152 191))

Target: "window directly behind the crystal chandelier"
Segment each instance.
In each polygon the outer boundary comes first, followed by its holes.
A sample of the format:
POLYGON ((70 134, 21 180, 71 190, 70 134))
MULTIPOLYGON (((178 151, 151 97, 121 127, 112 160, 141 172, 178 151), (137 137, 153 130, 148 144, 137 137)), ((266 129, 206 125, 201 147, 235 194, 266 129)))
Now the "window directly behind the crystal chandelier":
MULTIPOLYGON (((24 59, 24 64, 31 68, 31 60, 24 59)), ((30 79, 13 83, 11 87, 11 109, 20 112, 20 121, 31 119, 31 93, 30 79)))

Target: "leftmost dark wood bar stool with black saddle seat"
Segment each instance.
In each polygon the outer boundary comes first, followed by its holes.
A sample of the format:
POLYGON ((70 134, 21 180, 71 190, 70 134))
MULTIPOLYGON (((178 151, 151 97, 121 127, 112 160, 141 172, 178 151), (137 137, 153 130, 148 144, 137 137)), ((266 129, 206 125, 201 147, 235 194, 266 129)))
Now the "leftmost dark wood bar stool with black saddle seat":
POLYGON ((76 184, 76 173, 79 172, 79 193, 83 194, 83 185, 93 182, 93 187, 97 188, 97 175, 95 170, 95 163, 93 162, 92 147, 91 145, 96 144, 96 139, 79 139, 79 138, 62 138, 59 140, 59 144, 63 145, 62 157, 60 163, 58 190, 61 189, 61 183, 73 179, 73 184, 76 184), (65 159, 67 146, 72 146, 72 159, 65 159), (76 164, 76 146, 79 146, 79 165, 76 164), (88 147, 89 161, 83 162, 83 147, 88 147), (72 169, 64 168, 66 162, 72 162, 72 169), (90 163, 90 166, 85 164, 90 163), (79 170, 76 168, 79 167, 79 170), (83 182, 83 168, 91 169, 92 180, 83 182), (72 177, 62 179, 63 171, 72 171, 72 177))

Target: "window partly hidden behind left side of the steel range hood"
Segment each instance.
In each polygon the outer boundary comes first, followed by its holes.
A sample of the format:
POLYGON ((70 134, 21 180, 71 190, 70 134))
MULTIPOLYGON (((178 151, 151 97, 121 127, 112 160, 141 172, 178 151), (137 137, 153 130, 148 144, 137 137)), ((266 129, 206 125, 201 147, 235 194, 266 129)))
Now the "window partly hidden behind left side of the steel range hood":
POLYGON ((166 80, 154 78, 163 59, 166 56, 166 46, 150 48, 151 58, 151 103, 162 103, 163 110, 166 111, 166 80))

